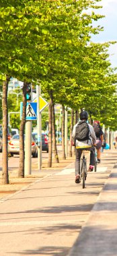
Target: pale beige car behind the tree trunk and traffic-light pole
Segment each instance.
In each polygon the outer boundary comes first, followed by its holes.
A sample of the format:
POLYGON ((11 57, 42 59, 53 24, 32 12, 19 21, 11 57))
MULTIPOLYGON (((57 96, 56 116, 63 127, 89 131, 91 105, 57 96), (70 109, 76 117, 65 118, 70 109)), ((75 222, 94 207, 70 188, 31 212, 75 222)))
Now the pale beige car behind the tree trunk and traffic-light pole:
MULTIPOLYGON (((13 154, 19 154, 19 134, 13 135, 12 139, 8 142, 8 152, 11 156, 13 156, 13 154)), ((38 146, 32 137, 32 157, 36 158, 37 156, 38 146)))

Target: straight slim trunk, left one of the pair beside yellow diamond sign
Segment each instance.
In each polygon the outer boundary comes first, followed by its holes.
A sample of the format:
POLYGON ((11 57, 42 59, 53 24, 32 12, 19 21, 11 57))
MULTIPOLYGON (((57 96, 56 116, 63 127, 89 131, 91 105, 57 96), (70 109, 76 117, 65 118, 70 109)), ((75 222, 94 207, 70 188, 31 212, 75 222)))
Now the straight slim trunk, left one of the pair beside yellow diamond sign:
POLYGON ((52 101, 48 105, 48 167, 52 167, 52 101))

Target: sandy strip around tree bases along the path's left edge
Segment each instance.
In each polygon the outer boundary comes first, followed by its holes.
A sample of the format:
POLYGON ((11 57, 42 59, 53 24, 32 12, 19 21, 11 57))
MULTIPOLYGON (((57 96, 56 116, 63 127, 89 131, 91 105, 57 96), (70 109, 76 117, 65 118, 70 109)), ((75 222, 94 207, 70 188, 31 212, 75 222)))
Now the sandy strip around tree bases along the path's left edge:
MULTIPOLYGON (((32 163, 32 172, 31 174, 26 175, 23 179, 17 178, 18 167, 11 167, 9 164, 8 173, 9 173, 9 185, 1 185, 2 172, 0 170, 0 199, 15 193, 22 189, 22 187, 28 186, 31 183, 34 183, 37 180, 44 179, 48 174, 52 174, 56 170, 63 170, 68 164, 74 161, 74 158, 67 158, 66 160, 61 159, 61 152, 58 152, 59 163, 52 160, 52 167, 48 168, 48 158, 42 161, 42 170, 38 170, 38 158, 34 158, 35 162, 32 163)), ((9 161, 12 161, 13 158, 9 158, 9 161)), ((15 158, 17 160, 17 158, 15 158)), ((18 159, 19 161, 19 159, 18 159)))

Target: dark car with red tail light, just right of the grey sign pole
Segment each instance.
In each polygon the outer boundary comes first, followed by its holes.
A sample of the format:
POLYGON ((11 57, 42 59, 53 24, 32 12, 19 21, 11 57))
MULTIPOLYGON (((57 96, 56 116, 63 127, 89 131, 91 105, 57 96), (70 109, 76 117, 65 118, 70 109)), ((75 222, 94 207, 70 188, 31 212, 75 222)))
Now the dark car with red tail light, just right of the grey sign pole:
MULTIPOLYGON (((32 133, 32 137, 38 143, 38 133, 32 133)), ((48 136, 46 133, 42 133, 42 151, 46 151, 48 153, 48 136)))

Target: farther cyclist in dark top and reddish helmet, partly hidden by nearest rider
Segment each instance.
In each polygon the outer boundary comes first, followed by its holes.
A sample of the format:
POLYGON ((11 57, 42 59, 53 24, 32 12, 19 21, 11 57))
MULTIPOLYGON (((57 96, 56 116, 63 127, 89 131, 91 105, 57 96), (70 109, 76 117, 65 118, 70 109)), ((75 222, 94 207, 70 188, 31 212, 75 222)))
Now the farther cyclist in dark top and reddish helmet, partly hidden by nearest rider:
POLYGON ((95 131, 96 136, 96 150, 97 150, 97 163, 100 164, 101 162, 101 148, 103 146, 104 136, 103 131, 100 126, 100 121, 94 121, 93 122, 93 129, 95 131))

